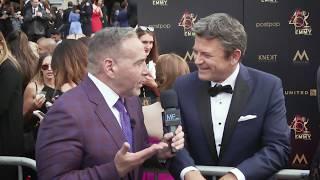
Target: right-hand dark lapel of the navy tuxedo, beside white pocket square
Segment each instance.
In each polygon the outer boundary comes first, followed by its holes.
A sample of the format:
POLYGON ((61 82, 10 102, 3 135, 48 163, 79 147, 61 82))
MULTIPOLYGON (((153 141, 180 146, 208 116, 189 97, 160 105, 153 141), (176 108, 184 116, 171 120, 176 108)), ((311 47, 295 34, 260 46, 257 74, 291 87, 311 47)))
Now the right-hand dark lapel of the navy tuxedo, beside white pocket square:
POLYGON ((240 65, 240 71, 236 79, 234 92, 228 111, 226 123, 224 126, 219 161, 221 162, 225 150, 228 148, 229 142, 231 140, 234 128, 238 123, 240 113, 243 107, 247 104, 247 100, 250 94, 249 88, 249 74, 245 66, 240 65))

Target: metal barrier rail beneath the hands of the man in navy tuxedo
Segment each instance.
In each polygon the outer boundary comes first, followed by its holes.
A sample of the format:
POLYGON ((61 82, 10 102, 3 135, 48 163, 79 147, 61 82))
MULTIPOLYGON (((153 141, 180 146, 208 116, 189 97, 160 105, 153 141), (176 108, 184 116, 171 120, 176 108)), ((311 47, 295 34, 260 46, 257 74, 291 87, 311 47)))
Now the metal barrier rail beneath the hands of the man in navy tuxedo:
MULTIPOLYGON (((223 166, 196 166, 203 175, 209 176, 223 176, 229 172, 233 167, 223 166)), ((277 179, 306 179, 309 176, 309 170, 299 169, 282 169, 275 177, 277 179)))

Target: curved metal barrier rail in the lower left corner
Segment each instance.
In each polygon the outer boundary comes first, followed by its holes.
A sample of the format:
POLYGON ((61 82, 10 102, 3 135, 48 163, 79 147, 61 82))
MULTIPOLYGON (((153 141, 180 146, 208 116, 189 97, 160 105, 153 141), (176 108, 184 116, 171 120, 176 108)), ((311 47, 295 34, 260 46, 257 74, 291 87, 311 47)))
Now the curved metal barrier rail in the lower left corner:
POLYGON ((37 171, 36 161, 25 157, 0 156, 0 165, 18 166, 18 179, 23 179, 22 166, 29 167, 37 171))

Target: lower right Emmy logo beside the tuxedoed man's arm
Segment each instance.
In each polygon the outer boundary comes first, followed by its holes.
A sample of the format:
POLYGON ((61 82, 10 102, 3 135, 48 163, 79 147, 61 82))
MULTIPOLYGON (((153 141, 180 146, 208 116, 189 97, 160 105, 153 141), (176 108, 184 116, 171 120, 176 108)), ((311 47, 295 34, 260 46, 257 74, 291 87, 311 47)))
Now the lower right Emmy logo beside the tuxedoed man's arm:
POLYGON ((308 129, 309 119, 301 116, 295 115, 293 121, 290 124, 290 129, 294 131, 294 138, 296 140, 311 140, 311 133, 308 129))

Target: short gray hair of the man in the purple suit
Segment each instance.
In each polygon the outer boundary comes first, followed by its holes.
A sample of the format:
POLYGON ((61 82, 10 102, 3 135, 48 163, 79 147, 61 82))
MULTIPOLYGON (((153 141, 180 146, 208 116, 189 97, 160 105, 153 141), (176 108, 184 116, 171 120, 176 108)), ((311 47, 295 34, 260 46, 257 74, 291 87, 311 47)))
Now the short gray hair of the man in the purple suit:
POLYGON ((134 37, 137 37, 137 34, 130 27, 110 27, 96 33, 89 42, 88 71, 96 74, 101 70, 104 59, 117 59, 121 56, 122 42, 134 37))

